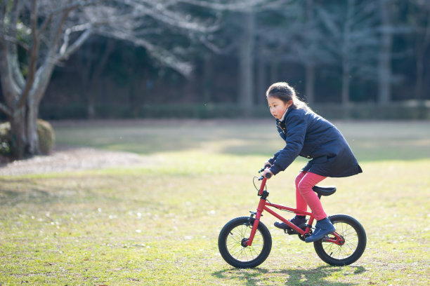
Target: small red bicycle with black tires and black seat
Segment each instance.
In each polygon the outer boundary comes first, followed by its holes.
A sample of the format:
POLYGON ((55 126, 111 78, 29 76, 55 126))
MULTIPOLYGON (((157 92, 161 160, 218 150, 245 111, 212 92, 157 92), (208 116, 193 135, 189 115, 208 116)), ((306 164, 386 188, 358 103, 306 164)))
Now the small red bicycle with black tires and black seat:
MULTIPOLYGON (((260 172, 262 172, 260 170, 260 172)), ((267 174, 271 175, 271 174, 267 174)), ((267 176, 266 175, 266 176, 267 176)), ((265 210, 274 217, 288 224, 291 229, 286 229, 289 235, 298 235, 301 240, 310 236, 314 217, 311 212, 304 212, 292 207, 276 205, 268 201, 269 192, 266 186, 266 177, 254 177, 261 181, 257 195, 260 197, 256 212, 251 211, 249 217, 237 217, 230 220, 219 233, 218 247, 224 260, 237 268, 253 268, 266 260, 271 252, 272 237, 268 228, 260 222, 261 213, 265 210), (296 226, 282 217, 271 208, 294 212, 309 217, 307 224, 296 226)), ((255 183, 254 183, 255 186, 255 183)), ((313 191, 321 196, 330 196, 336 191, 335 186, 314 186, 313 191)), ((329 217, 336 231, 325 238, 315 241, 313 247, 320 259, 327 264, 344 266, 357 261, 365 251, 366 233, 363 226, 351 216, 346 214, 334 214, 329 217)))

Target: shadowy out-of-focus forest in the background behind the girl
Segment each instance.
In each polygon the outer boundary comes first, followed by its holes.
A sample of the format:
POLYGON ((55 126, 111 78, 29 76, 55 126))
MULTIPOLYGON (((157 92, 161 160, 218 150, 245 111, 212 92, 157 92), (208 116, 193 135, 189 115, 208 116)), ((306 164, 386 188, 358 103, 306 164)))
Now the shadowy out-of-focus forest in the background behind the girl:
MULTIPOLYGON (((145 39, 169 50, 174 62, 131 38, 93 34, 56 65, 40 117, 266 116, 264 91, 275 81, 291 83, 332 118, 345 116, 339 110, 346 108, 349 117, 428 117, 429 1, 285 0, 249 7, 224 1, 230 6, 221 8, 178 2, 176 13, 211 29, 148 22, 145 39), (405 115, 398 107, 405 101, 423 110, 405 115)), ((25 69, 25 57, 20 64, 25 69)))

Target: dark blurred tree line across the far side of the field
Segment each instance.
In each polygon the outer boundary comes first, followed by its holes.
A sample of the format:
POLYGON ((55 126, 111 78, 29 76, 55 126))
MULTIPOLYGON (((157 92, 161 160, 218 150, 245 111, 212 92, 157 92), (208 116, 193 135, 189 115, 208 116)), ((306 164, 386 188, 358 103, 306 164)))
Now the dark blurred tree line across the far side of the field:
MULTIPOLYGON (((219 13, 216 31, 183 47, 190 74, 178 74, 137 46, 97 37, 56 70, 83 88, 65 97, 86 104, 90 117, 97 116, 94 104, 101 109, 117 102, 134 109, 160 103, 240 103, 249 109, 265 104, 264 90, 273 81, 292 82, 311 104, 429 99, 427 1, 275 1, 219 13), (82 60, 86 68, 77 67, 82 60), (79 79, 71 79, 75 71, 79 79)), ((64 92, 55 82, 48 92, 57 97, 64 92)), ((49 95, 48 102, 56 103, 49 95)))

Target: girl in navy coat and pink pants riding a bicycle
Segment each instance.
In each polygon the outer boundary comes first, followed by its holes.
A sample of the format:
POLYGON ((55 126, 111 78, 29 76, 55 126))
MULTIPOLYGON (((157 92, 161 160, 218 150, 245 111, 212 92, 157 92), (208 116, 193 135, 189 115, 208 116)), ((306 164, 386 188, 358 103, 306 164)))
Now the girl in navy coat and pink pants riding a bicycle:
MULTIPOLYGON (((341 132, 301 102, 288 83, 273 83, 266 97, 278 132, 287 145, 264 163, 270 167, 264 170, 263 176, 285 170, 297 156, 311 159, 296 178, 296 205, 298 210, 304 211, 309 206, 317 219, 315 231, 306 238, 306 243, 320 240, 332 233, 334 226, 312 191, 313 186, 326 177, 348 177, 362 170, 341 132)), ((300 226, 306 219, 296 214, 290 222, 300 226)), ((275 222, 275 226, 289 229, 283 222, 275 222)))

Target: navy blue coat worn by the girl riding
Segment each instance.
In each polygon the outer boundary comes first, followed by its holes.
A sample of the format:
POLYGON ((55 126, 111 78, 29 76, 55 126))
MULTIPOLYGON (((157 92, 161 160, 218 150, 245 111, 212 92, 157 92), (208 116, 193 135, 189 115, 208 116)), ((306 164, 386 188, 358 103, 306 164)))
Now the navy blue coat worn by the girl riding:
POLYGON ((269 159, 273 175, 285 170, 297 156, 312 160, 303 168, 324 177, 348 177, 362 172, 341 132, 325 118, 292 105, 284 120, 276 120, 287 145, 269 159))

